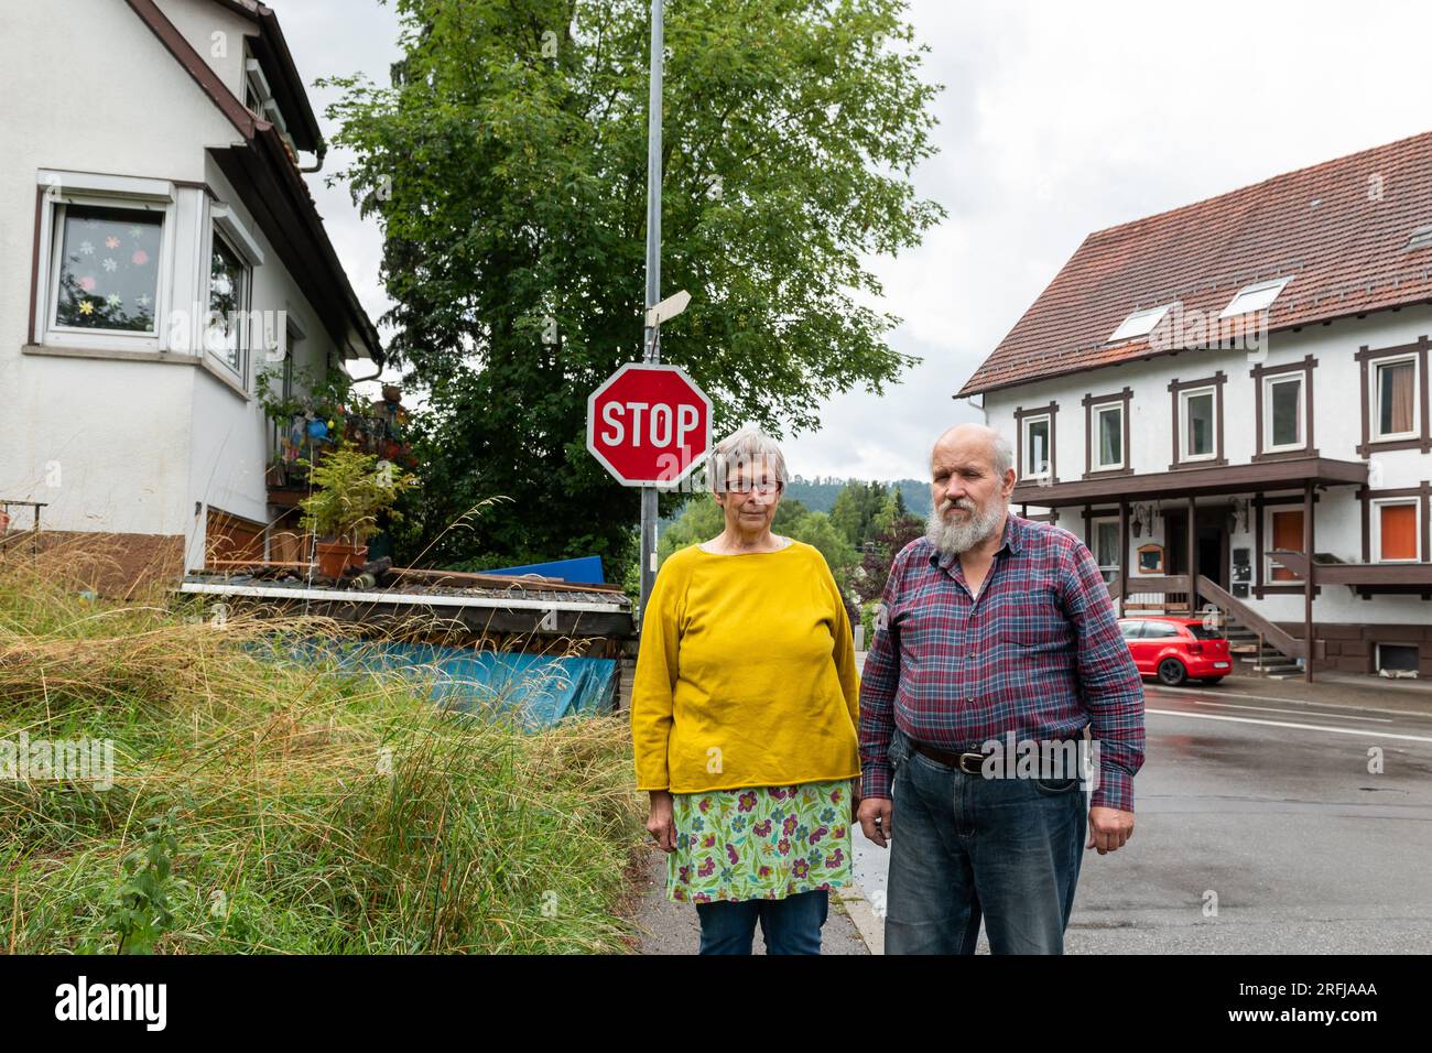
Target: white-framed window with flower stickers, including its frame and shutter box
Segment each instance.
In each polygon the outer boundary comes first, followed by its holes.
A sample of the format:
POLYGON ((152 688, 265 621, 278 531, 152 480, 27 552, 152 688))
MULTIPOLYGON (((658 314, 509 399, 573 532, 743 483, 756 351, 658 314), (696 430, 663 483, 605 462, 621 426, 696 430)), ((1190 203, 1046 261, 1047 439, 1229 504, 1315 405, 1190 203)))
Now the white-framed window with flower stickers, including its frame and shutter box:
POLYGON ((42 170, 39 344, 159 348, 170 289, 173 186, 42 170))

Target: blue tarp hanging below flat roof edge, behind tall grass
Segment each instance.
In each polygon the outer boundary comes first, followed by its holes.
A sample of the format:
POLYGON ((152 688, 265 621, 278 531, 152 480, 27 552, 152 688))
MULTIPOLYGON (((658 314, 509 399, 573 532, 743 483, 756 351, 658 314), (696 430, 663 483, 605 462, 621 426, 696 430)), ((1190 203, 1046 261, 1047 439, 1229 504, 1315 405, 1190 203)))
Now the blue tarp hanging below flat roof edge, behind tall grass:
POLYGON ((312 648, 348 668, 411 670, 432 681, 432 699, 445 706, 520 713, 534 731, 564 716, 611 712, 616 703, 617 663, 610 658, 550 658, 374 640, 338 648, 314 640, 312 648))

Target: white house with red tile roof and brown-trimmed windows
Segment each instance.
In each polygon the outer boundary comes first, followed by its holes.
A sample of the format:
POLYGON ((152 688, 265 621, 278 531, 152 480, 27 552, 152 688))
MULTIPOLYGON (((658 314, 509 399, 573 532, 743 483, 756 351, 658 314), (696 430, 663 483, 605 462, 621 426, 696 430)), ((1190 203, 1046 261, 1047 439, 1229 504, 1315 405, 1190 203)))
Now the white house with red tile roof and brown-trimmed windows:
POLYGON ((1429 676, 1429 337, 1432 133, 1091 234, 957 397, 1126 612, 1429 676))

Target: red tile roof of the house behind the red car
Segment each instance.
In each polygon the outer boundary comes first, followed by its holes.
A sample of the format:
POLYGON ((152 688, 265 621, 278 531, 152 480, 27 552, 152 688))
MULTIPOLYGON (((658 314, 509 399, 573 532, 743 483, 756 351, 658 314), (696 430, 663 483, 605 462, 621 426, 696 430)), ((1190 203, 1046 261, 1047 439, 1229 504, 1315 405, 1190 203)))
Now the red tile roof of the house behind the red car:
POLYGON ((1246 285, 1295 275, 1269 331, 1432 301, 1432 132, 1160 212, 1084 239, 958 397, 1173 350, 1110 345, 1137 309, 1209 318, 1246 285))

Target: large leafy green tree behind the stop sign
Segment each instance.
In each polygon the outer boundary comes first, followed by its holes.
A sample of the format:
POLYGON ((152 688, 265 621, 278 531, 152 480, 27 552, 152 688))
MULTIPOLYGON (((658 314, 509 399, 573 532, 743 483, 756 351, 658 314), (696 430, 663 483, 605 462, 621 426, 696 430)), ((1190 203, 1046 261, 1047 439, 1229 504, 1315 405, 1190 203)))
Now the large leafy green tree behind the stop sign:
MULTIPOLYGON (((438 562, 597 553, 620 574, 637 493, 584 428, 587 394, 642 354, 647 3, 395 4, 392 85, 322 83, 342 90, 339 176, 384 228, 390 358, 428 398, 401 543, 438 562), (447 529, 493 496, 511 501, 447 529)), ((944 215, 909 182, 934 152, 928 49, 901 0, 670 0, 666 44, 663 292, 693 301, 663 358, 717 431, 815 427, 823 398, 914 361, 865 305, 865 261, 944 215)))

